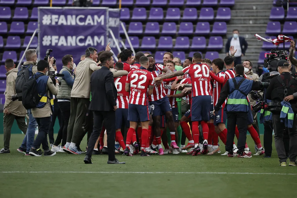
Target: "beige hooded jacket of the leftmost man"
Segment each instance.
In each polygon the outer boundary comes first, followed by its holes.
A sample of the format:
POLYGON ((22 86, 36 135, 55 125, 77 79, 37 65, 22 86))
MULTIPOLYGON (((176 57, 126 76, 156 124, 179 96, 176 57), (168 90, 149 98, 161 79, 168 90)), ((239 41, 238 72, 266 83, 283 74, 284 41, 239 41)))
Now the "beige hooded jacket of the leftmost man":
POLYGON ((26 109, 23 107, 22 101, 12 101, 11 97, 16 94, 15 92, 15 79, 18 76, 18 68, 14 68, 5 74, 6 77, 6 90, 5 90, 5 103, 4 109, 15 116, 26 116, 26 109))

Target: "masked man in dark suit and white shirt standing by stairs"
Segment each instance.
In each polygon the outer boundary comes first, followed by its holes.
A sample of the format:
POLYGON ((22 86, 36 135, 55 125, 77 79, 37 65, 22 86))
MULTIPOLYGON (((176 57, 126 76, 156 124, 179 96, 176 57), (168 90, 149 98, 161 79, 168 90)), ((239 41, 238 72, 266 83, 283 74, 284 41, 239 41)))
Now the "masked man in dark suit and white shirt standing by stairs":
POLYGON ((234 49, 236 49, 235 55, 234 55, 235 56, 234 65, 238 65, 238 64, 242 65, 241 56, 244 56, 245 51, 247 50, 248 44, 244 37, 239 36, 238 29, 234 29, 233 37, 230 37, 227 40, 226 47, 225 47, 225 52, 227 56, 231 54, 229 53, 230 46, 234 46, 234 49))

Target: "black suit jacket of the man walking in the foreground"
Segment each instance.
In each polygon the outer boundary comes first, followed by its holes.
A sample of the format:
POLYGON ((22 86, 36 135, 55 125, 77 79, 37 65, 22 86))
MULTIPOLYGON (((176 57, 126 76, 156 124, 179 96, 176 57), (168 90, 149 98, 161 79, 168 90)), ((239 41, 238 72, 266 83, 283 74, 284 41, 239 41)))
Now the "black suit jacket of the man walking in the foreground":
POLYGON ((113 111, 118 92, 113 83, 113 73, 107 67, 102 67, 91 75, 91 93, 89 110, 113 111))

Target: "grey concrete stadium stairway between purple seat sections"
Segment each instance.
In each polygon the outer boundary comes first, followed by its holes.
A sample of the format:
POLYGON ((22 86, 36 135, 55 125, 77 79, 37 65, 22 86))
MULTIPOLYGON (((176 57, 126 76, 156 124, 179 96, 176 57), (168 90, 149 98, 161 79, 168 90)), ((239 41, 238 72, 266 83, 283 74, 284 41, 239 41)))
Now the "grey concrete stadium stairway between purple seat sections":
MULTIPOLYGON (((265 37, 269 15, 273 7, 273 0, 235 0, 235 5, 231 10, 231 20, 227 26, 227 35, 232 35, 233 29, 238 29, 249 44, 242 60, 249 59, 254 63, 258 61, 263 42, 257 41, 255 34, 265 37), (249 16, 249 17, 247 17, 249 16)), ((224 46, 227 39, 224 39, 224 46)), ((220 54, 224 58, 225 54, 220 54)), ((255 71, 256 67, 253 67, 255 71)))

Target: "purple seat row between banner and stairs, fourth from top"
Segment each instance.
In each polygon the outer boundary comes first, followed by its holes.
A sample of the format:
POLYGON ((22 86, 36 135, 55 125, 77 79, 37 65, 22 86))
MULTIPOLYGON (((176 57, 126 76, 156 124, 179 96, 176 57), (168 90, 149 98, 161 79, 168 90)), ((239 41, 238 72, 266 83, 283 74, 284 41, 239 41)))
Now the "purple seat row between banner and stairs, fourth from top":
MULTIPOLYGON (((155 37, 143 37, 141 45, 138 37, 129 37, 133 48, 138 49, 158 49, 158 50, 221 50, 223 48, 223 39, 220 36, 209 37, 208 45, 206 45, 205 37, 193 37, 190 44, 189 37, 176 37, 175 45, 173 45, 172 37, 160 37, 157 44, 155 37)), ((129 48, 128 40, 126 39, 125 45, 129 48)))

